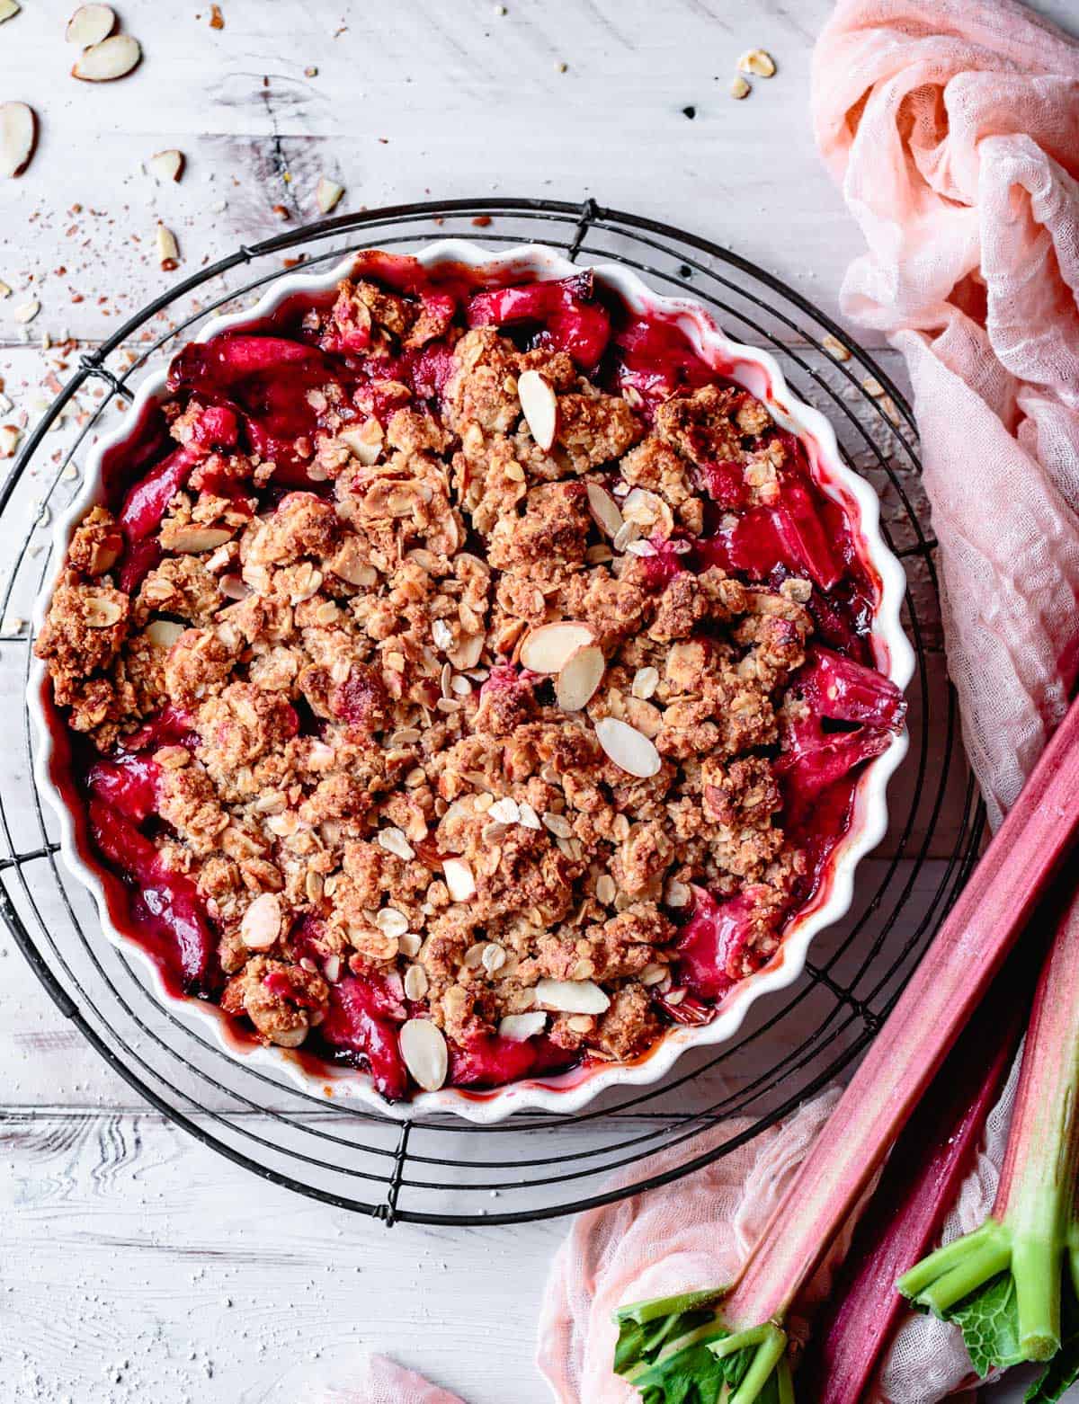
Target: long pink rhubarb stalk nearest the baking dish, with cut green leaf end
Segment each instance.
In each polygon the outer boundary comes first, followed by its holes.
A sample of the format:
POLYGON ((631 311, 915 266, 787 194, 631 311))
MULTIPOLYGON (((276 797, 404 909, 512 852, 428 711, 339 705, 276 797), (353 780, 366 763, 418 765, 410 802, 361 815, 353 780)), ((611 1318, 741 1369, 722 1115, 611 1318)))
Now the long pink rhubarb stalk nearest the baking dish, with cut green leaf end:
POLYGON ((708 1306, 700 1297, 686 1309, 686 1299, 676 1297, 615 1314, 615 1369, 646 1404, 714 1404, 724 1386, 731 1404, 788 1397, 785 1356, 776 1341, 784 1337, 791 1303, 850 1219, 1073 842, 1076 795, 1073 702, 736 1282, 705 1293, 708 1306))

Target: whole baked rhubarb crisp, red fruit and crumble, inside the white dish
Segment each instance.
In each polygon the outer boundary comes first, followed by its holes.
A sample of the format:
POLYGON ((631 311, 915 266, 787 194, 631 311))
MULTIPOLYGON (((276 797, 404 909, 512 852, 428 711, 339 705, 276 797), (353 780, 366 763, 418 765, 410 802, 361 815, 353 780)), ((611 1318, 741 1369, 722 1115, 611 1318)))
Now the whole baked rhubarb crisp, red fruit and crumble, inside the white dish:
POLYGON ((902 726, 805 445, 590 274, 364 256, 187 345, 37 653, 115 925, 391 1099, 645 1054, 902 726))

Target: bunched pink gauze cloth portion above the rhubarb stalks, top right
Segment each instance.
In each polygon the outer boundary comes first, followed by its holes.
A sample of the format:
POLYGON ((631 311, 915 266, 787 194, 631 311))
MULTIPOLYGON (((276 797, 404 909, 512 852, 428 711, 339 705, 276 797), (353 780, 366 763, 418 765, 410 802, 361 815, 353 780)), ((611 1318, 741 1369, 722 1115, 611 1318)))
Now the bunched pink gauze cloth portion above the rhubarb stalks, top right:
POLYGON ((840 0, 813 126, 915 392, 964 740, 996 824, 1073 681, 1079 45, 1014 0, 840 0))

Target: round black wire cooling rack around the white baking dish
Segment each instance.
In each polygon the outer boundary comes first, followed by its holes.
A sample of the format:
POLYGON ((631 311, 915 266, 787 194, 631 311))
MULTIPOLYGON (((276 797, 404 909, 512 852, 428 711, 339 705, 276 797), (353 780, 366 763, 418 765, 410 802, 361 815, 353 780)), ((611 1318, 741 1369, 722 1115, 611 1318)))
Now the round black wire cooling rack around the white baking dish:
POLYGON ((676 1179, 759 1134, 872 1038, 961 889, 983 827, 940 653, 936 542, 924 526, 905 399, 865 351, 778 278, 705 239, 594 201, 475 199, 346 215, 239 249, 174 285, 81 358, 0 489, 4 539, 21 538, 3 618, 31 616, 56 569, 41 528, 42 494, 45 514, 63 508, 89 437, 124 406, 148 362, 171 355, 207 317, 249 305, 285 261, 320 267, 355 249, 407 253, 451 234, 618 261, 660 292, 691 293, 733 338, 767 347, 794 392, 825 410, 846 461, 881 496, 885 535, 908 569, 905 625, 917 673, 910 754, 892 781, 891 833, 879 851, 887 856, 863 861, 851 913, 816 938, 802 979, 759 1000, 735 1040, 684 1054, 658 1085, 611 1091, 576 1116, 525 1112, 478 1127, 334 1106, 273 1070, 236 1061, 212 1035, 160 1005, 140 962, 105 941, 89 894, 59 862, 56 826, 32 779, 35 743, 22 701, 32 639, 8 628, 0 637, 13 727, 0 761, 0 914, 42 984, 163 1116, 264 1179, 388 1224, 554 1217, 676 1179), (825 337, 846 347, 849 359, 829 355, 825 337), (48 439, 87 397, 96 407, 74 442, 48 439))

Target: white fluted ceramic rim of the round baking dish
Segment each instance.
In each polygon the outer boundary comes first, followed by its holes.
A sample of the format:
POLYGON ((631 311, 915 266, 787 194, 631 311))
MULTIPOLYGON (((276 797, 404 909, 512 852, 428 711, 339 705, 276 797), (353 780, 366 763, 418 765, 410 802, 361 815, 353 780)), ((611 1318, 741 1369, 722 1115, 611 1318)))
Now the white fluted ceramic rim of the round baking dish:
MULTIPOLYGON (((520 244, 500 253, 493 253, 461 240, 438 240, 426 246, 414 256, 430 267, 438 263, 459 263, 469 267, 492 267, 495 270, 511 265, 524 275, 540 278, 565 278, 580 272, 583 264, 570 264, 558 251, 542 244, 520 244)), ((292 272, 277 279, 250 309, 214 317, 200 331, 197 340, 211 337, 232 327, 240 327, 274 312, 280 303, 303 292, 326 291, 346 277, 357 254, 348 254, 341 263, 325 272, 292 272)), ((694 343, 704 359, 731 366, 725 373, 742 383, 761 399, 766 399, 774 417, 784 428, 797 432, 826 472, 820 487, 836 497, 849 494, 858 512, 858 535, 867 548, 872 569, 881 581, 881 601, 874 616, 872 640, 878 660, 887 667, 891 680, 902 689, 909 684, 915 670, 915 654, 903 633, 901 609, 906 591, 906 577, 899 562, 887 549, 879 532, 879 507, 877 496, 863 479, 844 466, 839 455, 835 431, 823 414, 797 400, 787 388, 784 375, 767 351, 731 341, 715 326, 705 309, 688 298, 663 298, 653 293, 636 274, 617 264, 591 265, 596 274, 629 303, 635 310, 653 310, 677 319, 681 329, 694 343)), ((131 409, 122 421, 94 444, 87 455, 83 472, 83 487, 72 505, 58 515, 53 528, 55 559, 62 562, 74 525, 83 514, 100 500, 100 470, 104 453, 119 444, 138 418, 146 403, 166 390, 166 371, 153 371, 135 392, 131 409)), ((35 635, 41 630, 51 591, 45 591, 35 611, 35 635)), ((825 927, 839 921, 850 908, 854 894, 854 872, 860 859, 868 854, 885 834, 888 807, 885 792, 888 781, 903 760, 908 750, 908 733, 898 734, 887 751, 877 757, 864 771, 856 793, 856 809, 850 830, 830 859, 830 882, 819 906, 808 908, 797 917, 784 934, 784 941, 776 959, 756 974, 738 984, 728 997, 718 1018, 701 1028, 676 1025, 669 1029, 652 1052, 638 1063, 597 1066, 582 1074, 573 1070, 556 1077, 537 1081, 525 1080, 489 1091, 468 1092, 457 1088, 443 1088, 438 1092, 420 1092, 412 1102, 389 1105, 371 1085, 364 1073, 351 1068, 329 1067, 315 1075, 301 1063, 278 1049, 240 1043, 229 1031, 226 1019, 214 1005, 198 1000, 178 1000, 171 995, 162 980, 156 962, 133 939, 122 935, 108 914, 104 886, 98 873, 79 852, 72 813, 62 799, 49 774, 53 757, 53 737, 42 705, 45 667, 37 658, 31 667, 28 705, 38 739, 34 775, 38 790, 56 813, 60 828, 60 855, 69 872, 93 896, 104 935, 125 955, 135 956, 148 969, 157 1000, 195 1026, 209 1025, 226 1053, 242 1061, 253 1061, 263 1067, 284 1073, 308 1095, 333 1098, 336 1102, 355 1101, 368 1111, 391 1118, 416 1118, 424 1113, 452 1112, 469 1122, 493 1125, 504 1120, 516 1111, 537 1109, 555 1113, 580 1111, 600 1092, 611 1087, 643 1085, 655 1082, 674 1066, 690 1047, 719 1045, 733 1038, 752 1004, 761 995, 785 988, 801 974, 806 952, 813 936, 825 927)))

